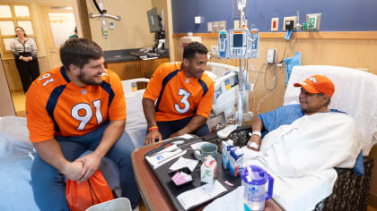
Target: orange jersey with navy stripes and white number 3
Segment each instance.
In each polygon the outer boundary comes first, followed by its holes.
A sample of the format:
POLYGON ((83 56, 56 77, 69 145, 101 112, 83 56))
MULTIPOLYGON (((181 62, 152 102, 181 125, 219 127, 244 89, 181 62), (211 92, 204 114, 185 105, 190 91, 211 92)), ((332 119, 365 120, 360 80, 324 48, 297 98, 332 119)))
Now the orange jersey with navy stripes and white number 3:
POLYGON ((208 118, 214 92, 214 81, 206 73, 200 79, 189 78, 181 63, 163 63, 153 73, 144 97, 155 102, 156 121, 166 122, 194 114, 208 118))

